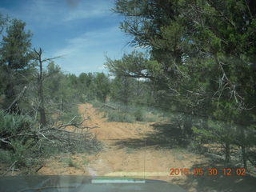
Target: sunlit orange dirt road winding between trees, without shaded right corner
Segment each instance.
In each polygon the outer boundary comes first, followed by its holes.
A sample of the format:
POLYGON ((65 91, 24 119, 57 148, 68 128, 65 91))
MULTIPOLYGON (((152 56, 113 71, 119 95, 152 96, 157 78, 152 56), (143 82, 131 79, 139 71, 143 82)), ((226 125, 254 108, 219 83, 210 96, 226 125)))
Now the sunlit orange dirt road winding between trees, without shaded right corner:
POLYGON ((91 132, 102 141, 104 150, 99 154, 74 154, 67 157, 77 166, 63 166, 63 161, 60 160, 63 157, 54 157, 42 167, 39 174, 122 176, 170 182, 173 178, 185 177, 170 176, 170 168, 190 168, 194 163, 202 162, 202 158, 194 154, 147 146, 144 136, 154 131, 154 123, 107 122, 90 104, 80 105, 79 112, 86 117, 90 116, 87 126, 99 127, 91 132), (130 140, 136 139, 141 141, 140 147, 127 145, 130 140))

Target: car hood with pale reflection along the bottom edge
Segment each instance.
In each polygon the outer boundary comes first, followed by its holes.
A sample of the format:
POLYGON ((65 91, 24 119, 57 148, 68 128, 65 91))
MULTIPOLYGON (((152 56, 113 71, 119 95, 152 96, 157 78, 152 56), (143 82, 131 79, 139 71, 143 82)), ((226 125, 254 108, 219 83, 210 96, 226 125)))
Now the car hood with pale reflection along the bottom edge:
POLYGON ((180 186, 159 180, 135 178, 91 178, 86 176, 8 176, 0 177, 0 191, 175 191, 185 192, 180 186))

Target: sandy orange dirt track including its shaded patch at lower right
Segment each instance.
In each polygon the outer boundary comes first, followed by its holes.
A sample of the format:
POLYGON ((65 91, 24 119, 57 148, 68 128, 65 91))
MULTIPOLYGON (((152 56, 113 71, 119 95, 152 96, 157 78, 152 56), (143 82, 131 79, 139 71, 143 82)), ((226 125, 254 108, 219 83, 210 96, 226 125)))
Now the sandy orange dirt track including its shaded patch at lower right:
POLYGON ((245 185, 248 186, 247 182, 255 182, 253 178, 253 180, 246 178, 247 181, 241 176, 223 178, 221 174, 214 177, 192 176, 189 178, 186 175, 170 176, 170 168, 188 168, 192 170, 197 166, 197 168, 203 168, 203 166, 209 168, 209 164, 203 156, 190 153, 187 150, 147 146, 145 135, 154 134, 154 122, 108 122, 106 118, 102 118, 103 114, 90 104, 80 105, 79 112, 84 114, 86 118, 90 116, 86 126, 98 126, 98 128, 90 131, 103 143, 104 149, 98 154, 70 155, 68 158, 77 163, 78 166, 76 167, 63 164, 61 160, 63 156, 50 158, 38 171, 38 174, 160 179, 178 184, 190 192, 218 191, 218 187, 227 189, 223 191, 239 191, 245 189, 245 185), (129 141, 134 140, 139 140, 141 145, 131 147, 133 145, 130 145, 129 141), (145 141, 146 146, 144 146, 145 141))

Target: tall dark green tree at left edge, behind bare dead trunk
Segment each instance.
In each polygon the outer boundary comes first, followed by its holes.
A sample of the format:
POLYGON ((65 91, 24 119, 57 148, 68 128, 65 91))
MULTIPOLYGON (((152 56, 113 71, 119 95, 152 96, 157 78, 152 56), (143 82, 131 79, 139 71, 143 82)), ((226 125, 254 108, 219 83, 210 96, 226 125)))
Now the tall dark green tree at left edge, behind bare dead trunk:
POLYGON ((2 37, 1 42, 1 61, 0 65, 5 73, 4 82, 6 82, 5 95, 6 106, 10 112, 18 111, 18 101, 14 99, 18 97, 22 85, 25 84, 27 70, 30 67, 30 31, 25 30, 26 23, 18 19, 10 21, 7 26, 6 35, 2 37))

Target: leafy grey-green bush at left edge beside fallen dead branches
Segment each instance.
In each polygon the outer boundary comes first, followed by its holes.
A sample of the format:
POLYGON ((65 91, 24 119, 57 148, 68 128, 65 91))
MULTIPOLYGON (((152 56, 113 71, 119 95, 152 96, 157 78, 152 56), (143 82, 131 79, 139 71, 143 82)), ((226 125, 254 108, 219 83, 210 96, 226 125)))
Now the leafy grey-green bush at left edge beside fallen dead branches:
POLYGON ((6 114, 0 111, 0 137, 10 138, 10 146, 2 146, 4 149, 2 150, 2 162, 16 162, 16 166, 27 167, 38 163, 38 160, 34 158, 38 153, 34 139, 29 139, 26 135, 17 137, 18 134, 26 134, 26 130, 30 130, 33 125, 34 122, 30 116, 6 114))

